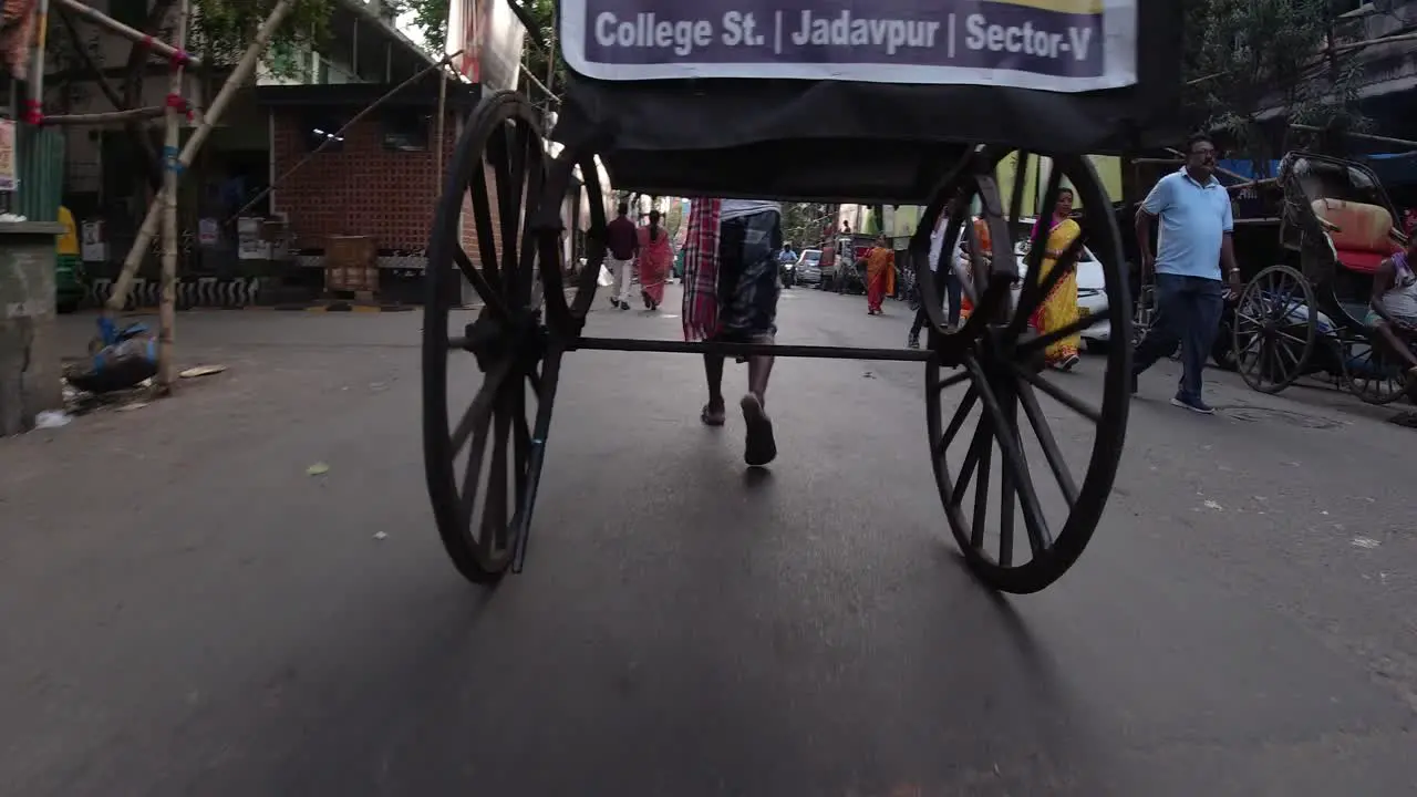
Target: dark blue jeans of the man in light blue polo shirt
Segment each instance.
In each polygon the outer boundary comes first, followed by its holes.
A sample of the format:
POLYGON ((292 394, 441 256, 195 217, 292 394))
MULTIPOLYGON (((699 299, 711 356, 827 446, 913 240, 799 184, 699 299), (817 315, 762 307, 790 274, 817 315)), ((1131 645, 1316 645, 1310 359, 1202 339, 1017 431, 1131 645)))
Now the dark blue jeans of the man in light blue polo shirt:
POLYGON ((1139 374, 1180 346, 1180 390, 1183 401, 1200 400, 1200 372, 1220 329, 1226 308, 1226 285, 1204 277, 1156 275, 1156 322, 1136 345, 1132 373, 1139 374))

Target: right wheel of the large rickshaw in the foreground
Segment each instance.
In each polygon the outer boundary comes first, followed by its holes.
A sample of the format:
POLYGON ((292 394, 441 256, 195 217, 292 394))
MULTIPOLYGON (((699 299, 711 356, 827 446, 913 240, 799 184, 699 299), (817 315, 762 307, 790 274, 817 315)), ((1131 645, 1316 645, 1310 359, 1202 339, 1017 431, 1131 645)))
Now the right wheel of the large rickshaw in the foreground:
MULTIPOLYGON (((925 296, 939 296, 925 267, 928 230, 947 200, 954 199, 947 247, 971 241, 969 272, 973 313, 958 332, 944 326, 938 301, 927 301, 935 353, 927 366, 925 403, 931 464, 951 533, 971 569, 988 584, 1009 593, 1039 591, 1078 559, 1102 516, 1122 455, 1129 404, 1131 291, 1121 235, 1111 203, 1085 157, 1051 159, 1050 184, 1041 207, 1057 201, 1066 177, 1085 208, 1084 234, 1047 274, 1046 241, 1034 240, 1020 269, 1013 258, 1016 237, 1007 220, 1019 220, 1023 180, 1010 191, 1007 211, 993 179, 1007 150, 982 150, 927 208, 911 252, 925 296), (983 258, 969 220, 978 203, 992 243, 983 258), (1111 339, 1105 373, 1051 374, 1043 369, 1050 343, 1098 323, 1077 319, 1047 333, 1030 329, 1040 302, 1076 272, 1085 238, 1105 275, 1111 339), (1015 277, 1022 271, 1017 299, 1015 277), (954 373, 945 369, 954 367, 954 373), (945 391, 951 391, 947 396, 945 391), (1022 520, 1022 523, 1020 523, 1022 520), (1022 529, 1023 540, 1016 539, 1022 529)), ((1026 174, 1032 156, 1017 155, 1016 174, 1026 174)), ((1084 366, 1085 367, 1085 366, 1084 366)))

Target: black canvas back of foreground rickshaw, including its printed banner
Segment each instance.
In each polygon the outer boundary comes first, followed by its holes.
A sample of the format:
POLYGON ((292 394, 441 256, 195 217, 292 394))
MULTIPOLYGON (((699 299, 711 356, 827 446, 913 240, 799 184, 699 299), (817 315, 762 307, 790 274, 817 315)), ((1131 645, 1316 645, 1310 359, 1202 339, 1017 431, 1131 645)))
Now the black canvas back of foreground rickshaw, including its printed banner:
POLYGON ((982 143, 1172 143, 1180 1, 563 0, 572 74, 553 139, 622 189, 920 203, 982 143), (758 40, 734 10, 751 7, 758 40))

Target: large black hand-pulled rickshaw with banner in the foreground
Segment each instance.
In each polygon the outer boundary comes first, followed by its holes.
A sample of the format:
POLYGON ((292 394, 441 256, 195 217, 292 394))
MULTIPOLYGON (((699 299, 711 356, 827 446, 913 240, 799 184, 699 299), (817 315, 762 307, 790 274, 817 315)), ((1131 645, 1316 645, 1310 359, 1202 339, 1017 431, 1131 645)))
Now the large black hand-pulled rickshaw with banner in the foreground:
MULTIPOLYGON (((922 292, 939 296, 925 258, 947 201, 958 200, 947 240, 975 235, 965 224, 975 206, 993 245, 1012 251, 1007 220, 1024 214, 1023 182, 1002 196, 996 166, 1015 153, 1047 156, 1043 207, 1067 180, 1093 210, 1087 244, 1104 261, 1112 306, 1127 308, 1121 238, 1085 155, 1175 140, 1165 121, 1180 85, 1180 0, 856 0, 829 10, 563 0, 558 10, 572 72, 550 135, 558 152, 527 99, 485 98, 458 140, 432 227, 424 447, 438 530, 458 570, 486 584, 523 566, 561 360, 598 349, 920 362, 928 454, 966 562, 1003 591, 1037 591, 1058 579, 1102 515, 1129 398, 1127 346, 1108 355, 1100 400, 1041 373, 1046 346, 1095 316, 1047 335, 1026 323, 1081 238, 1046 277, 1037 268, 1046 247, 1032 248, 1027 272, 1039 278, 1024 281, 1016 308, 1013 258, 973 258, 976 312, 947 330, 939 302, 925 302, 922 349, 594 338, 584 332, 605 258, 598 170, 604 165, 621 190, 666 196, 924 204, 910 257, 922 292), (555 264, 560 208, 575 174, 591 194, 588 268, 567 286, 555 264), (472 251, 461 244, 461 224, 476 231, 472 251), (461 281, 483 306, 449 332, 461 281), (449 417, 449 359, 466 355, 482 386, 449 417), (962 396, 947 406, 944 391, 955 386, 962 396), (1040 394, 1091 424, 1091 444, 1064 455, 1063 444, 1078 435, 1054 434, 1040 394), (978 423, 966 428, 975 407, 978 423), (958 467, 947 457, 956 442, 958 467), (1039 462, 1046 467, 1034 469, 1039 462), (1056 481, 1061 501, 1040 501, 1036 479, 1056 481), (1019 518, 1024 539, 1015 546, 1019 518)), ((1026 165, 1015 173, 1027 173, 1026 165)), ((1107 319, 1114 339, 1128 339, 1128 312, 1107 319)))

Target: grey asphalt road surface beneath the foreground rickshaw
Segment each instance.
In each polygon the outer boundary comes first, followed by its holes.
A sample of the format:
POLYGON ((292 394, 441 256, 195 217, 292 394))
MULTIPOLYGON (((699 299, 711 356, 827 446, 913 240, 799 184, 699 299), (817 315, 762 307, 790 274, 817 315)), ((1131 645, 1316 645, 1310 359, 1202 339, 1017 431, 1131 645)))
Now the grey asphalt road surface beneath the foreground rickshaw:
MULTIPOLYGON (((792 291, 781 340, 903 343, 863 305, 792 291)), ((921 366, 779 363, 750 479, 694 357, 574 353, 527 572, 485 594, 427 506, 419 323, 183 315, 227 373, 0 441, 0 794, 1417 791, 1391 411, 1217 374, 1197 417, 1162 363, 1083 560, 1000 598, 944 528, 921 366)))

